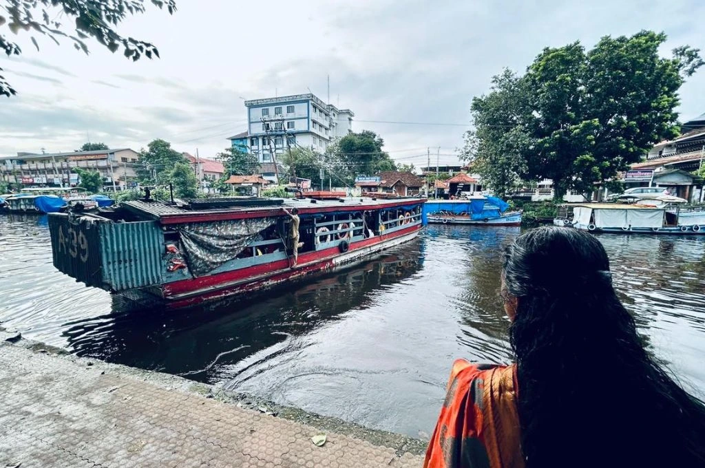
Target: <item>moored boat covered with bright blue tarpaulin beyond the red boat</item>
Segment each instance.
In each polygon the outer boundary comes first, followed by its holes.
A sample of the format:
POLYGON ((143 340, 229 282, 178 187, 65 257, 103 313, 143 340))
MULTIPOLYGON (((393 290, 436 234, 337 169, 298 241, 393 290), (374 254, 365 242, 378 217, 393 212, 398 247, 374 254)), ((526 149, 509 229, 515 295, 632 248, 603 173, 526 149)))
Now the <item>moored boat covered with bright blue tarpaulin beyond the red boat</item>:
POLYGON ((429 223, 520 226, 521 211, 506 211, 509 204, 496 197, 482 195, 460 200, 426 202, 424 214, 429 223))

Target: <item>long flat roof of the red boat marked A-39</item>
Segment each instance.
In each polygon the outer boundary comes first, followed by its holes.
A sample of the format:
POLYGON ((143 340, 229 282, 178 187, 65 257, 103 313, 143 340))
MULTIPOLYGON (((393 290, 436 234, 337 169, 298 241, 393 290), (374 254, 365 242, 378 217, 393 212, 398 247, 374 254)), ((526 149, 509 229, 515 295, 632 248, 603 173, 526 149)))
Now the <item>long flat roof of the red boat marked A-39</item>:
POLYGON ((159 220, 162 224, 192 223, 204 221, 226 221, 231 219, 283 216, 282 208, 297 208, 299 214, 318 214, 333 211, 360 211, 405 207, 424 202, 422 198, 374 199, 350 197, 339 199, 306 198, 257 198, 228 197, 194 199, 186 204, 134 200, 122 202, 120 207, 133 213, 159 220))

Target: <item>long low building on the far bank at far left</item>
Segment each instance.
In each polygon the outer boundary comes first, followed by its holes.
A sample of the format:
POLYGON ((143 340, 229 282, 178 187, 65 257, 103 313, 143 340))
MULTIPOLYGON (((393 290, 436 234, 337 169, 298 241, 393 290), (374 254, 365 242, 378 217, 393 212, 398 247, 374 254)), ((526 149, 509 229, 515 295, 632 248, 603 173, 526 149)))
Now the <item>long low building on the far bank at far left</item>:
POLYGON ((0 156, 0 180, 25 187, 78 185, 75 168, 98 171, 106 188, 119 190, 137 185, 140 154, 129 148, 61 153, 25 153, 0 156))

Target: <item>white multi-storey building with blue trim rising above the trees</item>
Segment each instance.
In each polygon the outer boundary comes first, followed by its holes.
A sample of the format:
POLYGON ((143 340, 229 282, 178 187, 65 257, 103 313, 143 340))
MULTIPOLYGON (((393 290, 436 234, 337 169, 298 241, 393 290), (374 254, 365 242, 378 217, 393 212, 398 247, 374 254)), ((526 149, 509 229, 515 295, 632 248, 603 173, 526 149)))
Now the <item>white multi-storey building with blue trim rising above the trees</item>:
POLYGON ((353 111, 325 104, 314 94, 254 99, 245 107, 247 147, 261 162, 271 162, 271 154, 283 153, 288 145, 324 152, 331 140, 353 130, 353 111))

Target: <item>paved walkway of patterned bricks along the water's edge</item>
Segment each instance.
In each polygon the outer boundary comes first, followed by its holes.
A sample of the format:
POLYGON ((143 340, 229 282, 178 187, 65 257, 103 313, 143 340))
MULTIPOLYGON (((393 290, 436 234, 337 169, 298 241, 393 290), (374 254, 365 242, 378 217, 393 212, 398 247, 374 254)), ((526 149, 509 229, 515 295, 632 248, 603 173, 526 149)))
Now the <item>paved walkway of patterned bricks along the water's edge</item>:
POLYGON ((0 342, 0 467, 420 467, 206 398, 183 378, 0 342))

